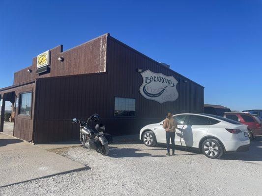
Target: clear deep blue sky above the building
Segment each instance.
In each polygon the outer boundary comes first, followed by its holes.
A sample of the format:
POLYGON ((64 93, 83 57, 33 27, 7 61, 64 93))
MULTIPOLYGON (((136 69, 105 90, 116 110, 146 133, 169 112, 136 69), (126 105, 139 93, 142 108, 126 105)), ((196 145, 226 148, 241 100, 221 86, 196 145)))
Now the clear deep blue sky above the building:
POLYGON ((262 0, 1 0, 0 88, 37 54, 106 32, 203 85, 205 103, 262 109, 262 0))

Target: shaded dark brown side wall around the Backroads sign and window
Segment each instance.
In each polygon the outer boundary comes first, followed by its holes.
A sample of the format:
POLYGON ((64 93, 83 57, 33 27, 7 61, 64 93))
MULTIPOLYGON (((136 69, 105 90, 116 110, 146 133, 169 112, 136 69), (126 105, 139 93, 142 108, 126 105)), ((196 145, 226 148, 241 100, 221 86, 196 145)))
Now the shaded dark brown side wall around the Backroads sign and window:
POLYGON ((142 54, 125 47, 110 37, 107 40, 107 72, 42 78, 37 81, 37 119, 34 142, 78 139, 78 126, 71 119, 86 120, 92 113, 101 116, 100 123, 114 134, 139 133, 148 123, 165 118, 167 110, 176 113, 203 112, 204 88, 183 76, 165 69, 142 54), (143 82, 137 68, 174 75, 179 80, 179 97, 173 102, 158 103, 141 96, 143 82), (115 97, 136 98, 136 117, 115 118, 115 97))

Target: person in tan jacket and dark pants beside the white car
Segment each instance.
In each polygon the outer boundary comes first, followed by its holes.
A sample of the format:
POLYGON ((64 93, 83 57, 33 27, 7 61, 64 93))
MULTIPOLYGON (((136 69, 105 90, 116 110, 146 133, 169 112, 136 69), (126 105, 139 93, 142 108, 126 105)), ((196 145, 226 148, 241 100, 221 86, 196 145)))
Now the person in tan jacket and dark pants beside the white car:
POLYGON ((170 155, 170 139, 172 143, 172 155, 175 155, 175 129, 177 128, 177 123, 173 118, 173 113, 168 112, 167 118, 164 121, 163 128, 166 130, 166 138, 167 138, 167 150, 168 153, 166 155, 170 155))

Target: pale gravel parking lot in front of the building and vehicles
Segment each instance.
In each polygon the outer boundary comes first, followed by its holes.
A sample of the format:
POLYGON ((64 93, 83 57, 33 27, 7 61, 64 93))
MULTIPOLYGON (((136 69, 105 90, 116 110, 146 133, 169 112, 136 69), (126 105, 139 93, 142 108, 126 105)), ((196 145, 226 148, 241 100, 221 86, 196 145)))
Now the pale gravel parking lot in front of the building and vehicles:
POLYGON ((249 152, 212 160, 195 151, 113 144, 109 156, 82 147, 61 152, 90 167, 0 188, 1 196, 261 196, 262 139, 249 152))

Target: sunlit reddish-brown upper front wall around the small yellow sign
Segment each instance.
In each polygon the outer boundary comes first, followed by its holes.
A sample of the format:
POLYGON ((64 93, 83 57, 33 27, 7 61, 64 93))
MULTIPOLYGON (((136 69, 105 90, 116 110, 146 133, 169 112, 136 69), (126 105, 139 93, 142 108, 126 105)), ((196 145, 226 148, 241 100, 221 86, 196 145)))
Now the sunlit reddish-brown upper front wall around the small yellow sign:
POLYGON ((108 34, 102 35, 64 52, 61 52, 61 45, 50 49, 50 73, 36 74, 37 57, 34 57, 31 66, 14 73, 14 84, 35 78, 105 72, 107 36, 108 34), (63 57, 64 61, 58 61, 58 57, 63 57), (32 72, 29 73, 28 69, 32 72))

